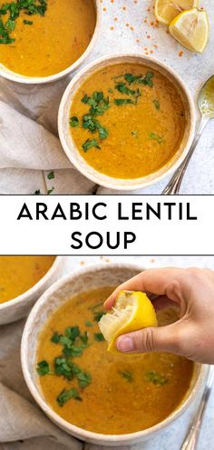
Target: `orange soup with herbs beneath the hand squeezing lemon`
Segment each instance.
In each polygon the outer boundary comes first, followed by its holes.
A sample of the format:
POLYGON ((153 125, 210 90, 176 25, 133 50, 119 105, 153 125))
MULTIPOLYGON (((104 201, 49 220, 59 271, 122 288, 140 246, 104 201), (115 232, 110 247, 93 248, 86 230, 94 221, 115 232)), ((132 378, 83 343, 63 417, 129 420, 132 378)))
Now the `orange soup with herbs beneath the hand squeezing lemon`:
POLYGON ((190 387, 194 365, 164 353, 108 353, 97 321, 112 290, 77 295, 53 313, 40 336, 37 372, 47 404, 63 419, 121 435, 170 415, 190 387))

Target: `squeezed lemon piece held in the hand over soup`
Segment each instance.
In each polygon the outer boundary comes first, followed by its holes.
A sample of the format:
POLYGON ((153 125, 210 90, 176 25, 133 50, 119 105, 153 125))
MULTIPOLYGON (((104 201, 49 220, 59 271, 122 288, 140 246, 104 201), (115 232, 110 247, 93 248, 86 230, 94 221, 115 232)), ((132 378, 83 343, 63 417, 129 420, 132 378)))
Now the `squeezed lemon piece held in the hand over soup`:
POLYGON ((115 341, 119 335, 147 326, 157 326, 153 305, 142 292, 122 291, 109 313, 102 315, 100 330, 108 342, 108 351, 116 352, 115 341))

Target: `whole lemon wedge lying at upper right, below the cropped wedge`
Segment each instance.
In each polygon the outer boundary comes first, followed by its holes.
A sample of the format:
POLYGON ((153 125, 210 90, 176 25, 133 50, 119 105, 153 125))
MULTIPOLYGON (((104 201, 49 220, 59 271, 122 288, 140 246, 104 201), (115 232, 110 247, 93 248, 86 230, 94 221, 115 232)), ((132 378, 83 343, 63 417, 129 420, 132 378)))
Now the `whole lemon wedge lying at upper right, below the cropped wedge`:
POLYGON ((192 52, 202 53, 209 41, 209 18, 206 11, 192 8, 177 15, 170 23, 170 35, 192 52))

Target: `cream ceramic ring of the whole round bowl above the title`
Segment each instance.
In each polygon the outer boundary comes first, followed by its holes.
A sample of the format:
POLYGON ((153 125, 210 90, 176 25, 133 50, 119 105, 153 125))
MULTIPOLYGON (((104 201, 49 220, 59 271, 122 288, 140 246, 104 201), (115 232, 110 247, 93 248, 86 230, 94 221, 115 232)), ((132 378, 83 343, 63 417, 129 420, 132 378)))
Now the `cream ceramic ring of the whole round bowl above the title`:
POLYGON ((187 155, 190 145, 193 141, 195 132, 195 109, 194 104, 191 99, 190 93, 187 86, 181 80, 180 76, 177 75, 168 65, 160 62, 159 60, 146 55, 110 55, 104 58, 93 61, 92 64, 86 65, 83 70, 81 70, 77 75, 73 77, 71 83, 67 86, 61 105, 59 108, 58 116, 58 129, 61 143, 63 145, 63 150, 73 163, 73 165, 87 178, 92 180, 97 185, 102 185, 111 189, 119 190, 133 190, 146 187, 148 185, 153 185, 157 183, 162 178, 170 175, 183 161, 187 155), (70 118, 70 108, 73 102, 73 97, 76 91, 80 88, 83 82, 91 76, 94 72, 106 65, 115 65, 117 63, 135 63, 140 65, 147 65, 152 69, 158 70, 161 74, 165 75, 170 81, 175 85, 183 103, 185 105, 186 114, 186 127, 184 131, 183 139, 180 143, 176 154, 170 159, 167 165, 161 167, 158 171, 151 175, 142 176, 141 178, 135 179, 122 179, 113 178, 112 176, 103 175, 97 170, 95 170, 91 165, 83 159, 83 156, 78 151, 74 141, 73 136, 70 132, 69 118, 70 118))

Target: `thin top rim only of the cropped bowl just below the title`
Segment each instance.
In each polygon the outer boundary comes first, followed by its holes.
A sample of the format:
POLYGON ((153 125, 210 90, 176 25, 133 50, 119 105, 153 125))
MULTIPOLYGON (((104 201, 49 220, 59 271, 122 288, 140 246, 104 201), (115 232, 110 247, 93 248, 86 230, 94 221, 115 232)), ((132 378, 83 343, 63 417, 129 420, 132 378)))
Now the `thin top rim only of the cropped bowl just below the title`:
MULTIPOLYGON (((13 256, 13 255, 11 255, 13 256)), ((24 255, 24 256, 33 256, 33 255, 24 255)), ((42 255, 42 256, 48 256, 48 255, 42 255)), ((54 255, 53 255, 54 256, 54 255)), ((57 256, 55 255, 55 259, 53 261, 53 264, 51 265, 50 269, 44 274, 40 280, 35 283, 30 289, 25 291, 23 294, 17 295, 16 297, 12 298, 11 300, 6 301, 3 304, 0 304, 0 314, 2 311, 6 311, 6 309, 9 309, 13 307, 14 305, 19 305, 21 303, 26 303, 29 298, 36 294, 36 291, 41 289, 45 283, 53 276, 53 274, 58 270, 59 266, 63 262, 63 256, 57 256)))

